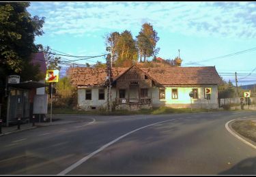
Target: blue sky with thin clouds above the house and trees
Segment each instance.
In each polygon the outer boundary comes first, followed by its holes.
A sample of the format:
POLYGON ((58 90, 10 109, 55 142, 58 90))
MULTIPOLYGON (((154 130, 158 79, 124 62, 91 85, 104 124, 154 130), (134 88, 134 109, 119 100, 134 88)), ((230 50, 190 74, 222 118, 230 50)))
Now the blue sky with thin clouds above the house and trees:
MULTIPOLYGON (((128 30, 135 39, 143 23, 150 22, 160 37, 157 57, 174 59, 180 49, 184 67, 215 66, 226 81, 235 83, 236 71, 238 85, 256 84, 255 2, 31 2, 27 10, 45 17, 44 35, 35 43, 54 50, 106 54, 104 35, 128 30)), ((96 61, 104 58, 79 63, 96 61)))

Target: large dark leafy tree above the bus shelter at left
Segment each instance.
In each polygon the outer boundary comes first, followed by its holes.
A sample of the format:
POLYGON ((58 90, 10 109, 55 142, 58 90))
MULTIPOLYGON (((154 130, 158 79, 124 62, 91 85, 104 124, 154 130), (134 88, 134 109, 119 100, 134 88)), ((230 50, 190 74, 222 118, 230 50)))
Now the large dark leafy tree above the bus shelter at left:
MULTIPOLYGON (((33 16, 27 12, 28 2, 0 3, 0 82, 10 74, 21 74, 30 64, 32 53, 38 52, 34 44, 35 36, 42 35, 44 17, 33 16)), ((37 69, 31 76, 36 76, 37 69)), ((26 80, 28 76, 23 75, 26 80)), ((31 78, 34 79, 34 78, 31 78)))

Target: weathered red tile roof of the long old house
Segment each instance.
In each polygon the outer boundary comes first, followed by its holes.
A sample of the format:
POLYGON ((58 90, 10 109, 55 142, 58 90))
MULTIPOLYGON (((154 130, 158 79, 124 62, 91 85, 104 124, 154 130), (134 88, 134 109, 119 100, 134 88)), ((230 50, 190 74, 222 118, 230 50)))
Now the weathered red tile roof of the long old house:
MULTIPOLYGON (((171 85, 198 85, 221 84, 221 77, 215 67, 162 67, 142 68, 158 84, 171 85)), ((113 67, 113 80, 124 74, 129 67, 113 67)), ((106 80, 106 68, 74 67, 68 70, 73 86, 98 86, 106 80)))

